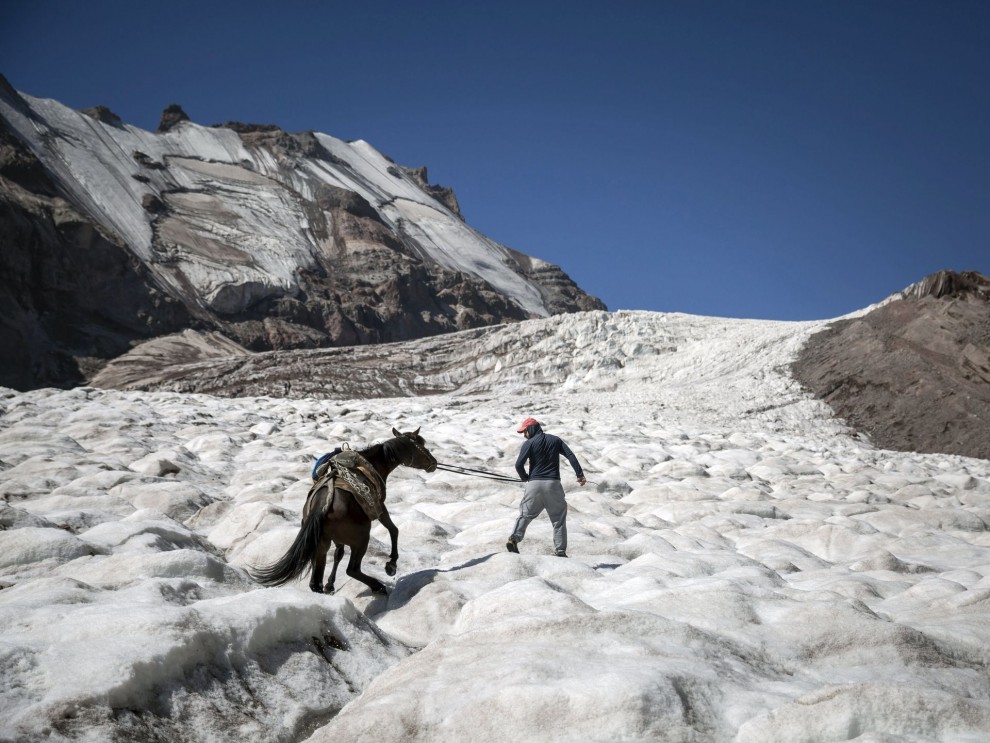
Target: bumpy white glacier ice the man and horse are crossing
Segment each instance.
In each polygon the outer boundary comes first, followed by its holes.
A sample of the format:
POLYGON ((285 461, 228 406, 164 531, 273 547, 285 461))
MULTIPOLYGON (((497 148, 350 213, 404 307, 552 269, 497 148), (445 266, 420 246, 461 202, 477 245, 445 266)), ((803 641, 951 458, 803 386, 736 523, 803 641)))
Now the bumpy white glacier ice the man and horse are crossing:
POLYGON ((990 463, 850 435, 788 376, 817 327, 535 320, 423 398, 3 392, 0 738, 986 740, 990 463), (521 486, 400 468, 388 597, 245 572, 334 445, 511 474, 528 415, 592 481, 569 559, 505 551, 521 486))

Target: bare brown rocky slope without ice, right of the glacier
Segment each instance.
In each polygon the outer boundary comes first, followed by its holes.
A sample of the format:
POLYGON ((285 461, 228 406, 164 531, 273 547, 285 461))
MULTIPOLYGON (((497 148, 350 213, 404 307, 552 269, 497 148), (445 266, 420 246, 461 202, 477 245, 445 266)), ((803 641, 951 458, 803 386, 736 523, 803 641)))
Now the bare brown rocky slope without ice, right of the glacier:
POLYGON ((932 274, 813 335, 793 373, 877 446, 990 459, 990 279, 932 274))

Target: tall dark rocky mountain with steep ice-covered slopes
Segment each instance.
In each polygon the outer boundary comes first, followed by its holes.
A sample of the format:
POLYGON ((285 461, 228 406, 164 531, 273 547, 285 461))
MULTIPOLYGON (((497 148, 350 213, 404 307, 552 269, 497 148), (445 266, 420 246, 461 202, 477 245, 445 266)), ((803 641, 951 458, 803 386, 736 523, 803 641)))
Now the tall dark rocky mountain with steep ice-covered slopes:
POLYGON ((0 385, 83 383, 186 329, 267 351, 592 309, 366 142, 200 126, 176 105, 149 132, 0 76, 0 385))

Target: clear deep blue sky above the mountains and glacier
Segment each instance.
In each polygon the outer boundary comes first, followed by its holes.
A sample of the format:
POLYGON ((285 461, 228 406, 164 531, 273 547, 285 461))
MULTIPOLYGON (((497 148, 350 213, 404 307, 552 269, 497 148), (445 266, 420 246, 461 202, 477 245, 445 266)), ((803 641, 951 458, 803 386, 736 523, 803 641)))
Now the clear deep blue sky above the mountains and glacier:
POLYGON ((364 139, 610 309, 836 317, 990 275, 990 3, 52 2, 0 72, 364 139))

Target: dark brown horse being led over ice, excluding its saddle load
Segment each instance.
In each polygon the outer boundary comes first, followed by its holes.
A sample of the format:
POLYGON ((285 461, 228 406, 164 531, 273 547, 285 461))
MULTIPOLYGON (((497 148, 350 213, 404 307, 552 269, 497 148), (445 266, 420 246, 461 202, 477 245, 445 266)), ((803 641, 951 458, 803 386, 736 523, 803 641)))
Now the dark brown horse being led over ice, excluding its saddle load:
MULTIPOLYGON (((393 428, 392 433, 394 438, 358 452, 381 477, 383 500, 385 481, 392 470, 399 465, 427 472, 433 472, 437 468, 437 460, 427 450, 426 442, 419 435, 418 428, 406 432, 399 432, 393 428)), ((326 487, 326 484, 322 486, 323 489, 326 487)), ((311 493, 311 496, 319 495, 330 494, 320 491, 311 493)), ((385 504, 381 505, 382 511, 378 520, 388 530, 392 539, 392 552, 388 562, 385 563, 385 572, 392 576, 395 575, 396 562, 399 559, 399 529, 392 522, 385 504)), ((381 581, 361 572, 361 561, 364 559, 370 539, 371 519, 364 512, 361 504, 348 490, 335 487, 326 512, 320 508, 311 508, 308 513, 303 512, 302 526, 288 551, 271 565, 255 568, 250 573, 264 586, 281 586, 299 577, 311 564, 310 590, 315 593, 332 594, 333 584, 337 578, 337 565, 344 556, 344 547, 347 546, 351 548, 347 575, 364 583, 372 593, 385 594, 387 593, 385 585, 381 581), (324 587, 323 572, 327 565, 327 552, 332 545, 336 545, 337 548, 334 552, 333 569, 324 587)))

